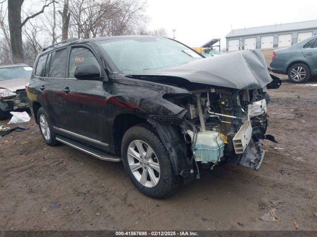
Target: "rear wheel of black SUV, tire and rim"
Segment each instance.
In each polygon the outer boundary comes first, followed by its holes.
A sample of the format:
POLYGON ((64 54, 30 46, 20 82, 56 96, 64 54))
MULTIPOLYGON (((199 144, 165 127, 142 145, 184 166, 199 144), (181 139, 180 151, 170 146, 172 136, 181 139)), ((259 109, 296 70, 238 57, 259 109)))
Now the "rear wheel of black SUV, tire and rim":
POLYGON ((40 132, 44 141, 50 146, 56 146, 58 144, 58 142, 55 140, 56 134, 53 131, 48 113, 43 109, 43 107, 38 110, 37 117, 40 132))

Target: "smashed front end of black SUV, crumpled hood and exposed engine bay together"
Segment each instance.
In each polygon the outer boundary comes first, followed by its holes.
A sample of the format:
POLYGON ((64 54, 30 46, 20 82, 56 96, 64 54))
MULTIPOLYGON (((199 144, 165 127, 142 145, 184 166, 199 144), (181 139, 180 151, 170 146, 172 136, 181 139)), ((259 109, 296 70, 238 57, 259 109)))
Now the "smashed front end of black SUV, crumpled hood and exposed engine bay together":
MULTIPOLYGON (((269 74, 259 50, 242 50, 129 76, 186 90, 165 92, 162 99, 172 104, 164 106, 172 115, 153 119, 180 127, 190 173, 196 170, 198 177, 198 163, 213 169, 230 161, 258 170, 264 159, 261 139, 275 142, 273 136, 265 135, 266 89, 278 88, 281 80, 269 74)), ((163 142, 168 144, 167 140, 163 142)))

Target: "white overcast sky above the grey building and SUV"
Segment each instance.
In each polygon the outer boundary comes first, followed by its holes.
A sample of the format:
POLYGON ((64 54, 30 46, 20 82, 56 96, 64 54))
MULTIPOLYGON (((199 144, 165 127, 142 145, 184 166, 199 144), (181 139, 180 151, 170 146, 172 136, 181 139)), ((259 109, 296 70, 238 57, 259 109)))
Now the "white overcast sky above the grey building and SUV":
POLYGON ((232 29, 317 19, 317 0, 147 0, 149 29, 163 27, 191 47, 221 38, 232 29))

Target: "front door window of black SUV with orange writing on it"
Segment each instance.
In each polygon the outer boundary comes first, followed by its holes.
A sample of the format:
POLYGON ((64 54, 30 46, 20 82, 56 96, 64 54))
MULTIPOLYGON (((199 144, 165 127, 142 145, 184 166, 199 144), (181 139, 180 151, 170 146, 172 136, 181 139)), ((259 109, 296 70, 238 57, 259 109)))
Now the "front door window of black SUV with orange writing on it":
POLYGON ((69 58, 69 78, 75 78, 74 73, 78 65, 81 64, 95 64, 100 71, 100 65, 95 58, 94 54, 88 49, 83 47, 76 47, 70 50, 69 58))

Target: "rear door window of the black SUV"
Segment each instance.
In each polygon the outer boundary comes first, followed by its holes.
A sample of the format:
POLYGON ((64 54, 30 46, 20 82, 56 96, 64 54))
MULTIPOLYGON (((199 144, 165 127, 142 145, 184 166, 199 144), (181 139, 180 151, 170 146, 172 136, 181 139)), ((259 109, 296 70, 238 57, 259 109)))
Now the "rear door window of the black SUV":
POLYGON ((59 49, 52 53, 49 78, 65 78, 67 49, 59 49))

